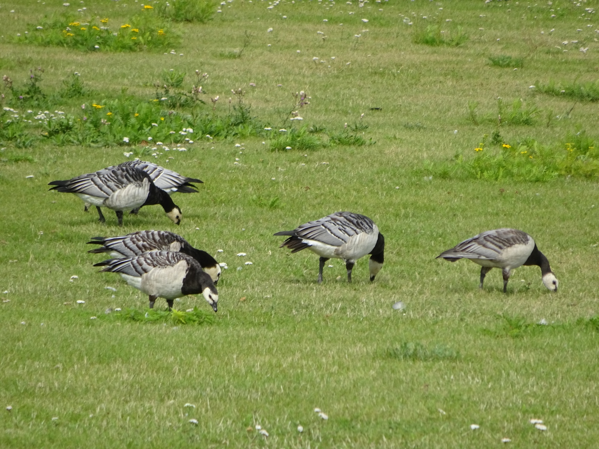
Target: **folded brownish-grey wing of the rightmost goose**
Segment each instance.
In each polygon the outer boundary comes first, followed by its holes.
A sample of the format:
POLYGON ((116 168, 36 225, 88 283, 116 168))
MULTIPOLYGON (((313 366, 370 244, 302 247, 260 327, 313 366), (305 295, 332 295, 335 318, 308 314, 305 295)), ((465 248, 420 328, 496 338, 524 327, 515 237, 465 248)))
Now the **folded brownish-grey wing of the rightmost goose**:
POLYGON ((443 251, 443 259, 486 259, 495 260, 502 251, 513 245, 527 244, 530 235, 518 229, 494 229, 481 232, 464 240, 450 250, 443 251))

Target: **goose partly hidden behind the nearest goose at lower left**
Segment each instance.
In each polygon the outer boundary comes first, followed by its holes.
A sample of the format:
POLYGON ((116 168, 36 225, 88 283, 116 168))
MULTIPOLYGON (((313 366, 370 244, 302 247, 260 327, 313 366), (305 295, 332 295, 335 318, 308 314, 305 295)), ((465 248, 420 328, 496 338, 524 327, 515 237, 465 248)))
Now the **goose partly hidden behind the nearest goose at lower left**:
POLYGON ((166 230, 138 230, 119 237, 92 237, 92 245, 102 245, 99 248, 87 251, 88 253, 108 253, 110 257, 134 257, 149 251, 174 251, 199 262, 216 285, 220 278, 220 266, 214 257, 206 251, 196 250, 180 235, 166 230))

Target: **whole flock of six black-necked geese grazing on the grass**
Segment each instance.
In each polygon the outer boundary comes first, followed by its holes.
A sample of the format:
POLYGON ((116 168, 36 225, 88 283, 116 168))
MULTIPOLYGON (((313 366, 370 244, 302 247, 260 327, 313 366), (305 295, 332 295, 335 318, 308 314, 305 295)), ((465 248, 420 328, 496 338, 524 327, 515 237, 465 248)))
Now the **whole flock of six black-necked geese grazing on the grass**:
MULTIPOLYGON (((53 186, 50 190, 77 195, 83 200, 85 211, 95 205, 101 223, 105 223, 101 208, 113 210, 119 226, 123 226, 123 213, 137 214, 141 207, 156 204, 179 225, 183 214, 171 195, 198 192, 193 183, 202 181, 135 159, 70 180, 52 181, 49 185, 53 186)), ((348 282, 352 281, 353 266, 361 257, 370 254, 370 281, 374 281, 385 262, 385 238, 373 220, 361 214, 335 212, 274 235, 287 236, 280 247, 287 247, 292 253, 308 249, 320 256, 318 283, 322 283, 322 271, 329 259, 345 261, 348 282)), ((111 257, 93 266, 103 267, 101 272, 119 273, 129 286, 148 295, 150 308, 158 298, 166 299, 171 310, 174 299, 201 294, 215 312, 218 310, 216 285, 221 265, 183 237, 164 230, 140 230, 123 236, 92 237, 87 244, 99 245, 88 253, 111 257)), ((558 280, 549 260, 539 251, 534 239, 518 229, 482 232, 443 251, 438 258, 450 262, 470 259, 480 265, 480 289, 492 268, 501 269, 503 292, 507 293, 513 269, 537 265, 544 286, 552 292, 558 290, 558 280)))

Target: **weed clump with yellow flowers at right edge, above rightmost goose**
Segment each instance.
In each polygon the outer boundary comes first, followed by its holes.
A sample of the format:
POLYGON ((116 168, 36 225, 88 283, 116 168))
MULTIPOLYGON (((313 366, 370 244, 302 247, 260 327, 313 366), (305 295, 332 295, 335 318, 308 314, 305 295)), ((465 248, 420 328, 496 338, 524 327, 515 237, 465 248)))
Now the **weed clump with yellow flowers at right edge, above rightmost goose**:
MULTIPOLYGON (((501 143, 499 151, 490 151, 483 142, 474 148, 474 157, 459 152, 453 162, 425 165, 425 172, 441 178, 501 181, 546 182, 562 177, 599 179, 599 151, 585 132, 567 134, 554 147, 524 139, 513 145, 501 143)), ((495 137, 500 138, 498 133, 495 137)))

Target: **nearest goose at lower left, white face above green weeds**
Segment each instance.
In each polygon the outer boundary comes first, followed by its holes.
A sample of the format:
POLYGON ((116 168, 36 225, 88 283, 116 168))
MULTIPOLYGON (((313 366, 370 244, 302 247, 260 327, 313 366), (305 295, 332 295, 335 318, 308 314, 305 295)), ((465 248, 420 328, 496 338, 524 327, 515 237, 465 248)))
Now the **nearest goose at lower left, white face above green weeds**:
POLYGON ((146 293, 150 308, 154 307, 156 298, 166 299, 168 308, 172 309, 174 299, 202 293, 217 311, 219 293, 212 279, 202 271, 198 261, 187 254, 150 251, 126 259, 104 260, 94 266, 104 266, 101 272, 119 273, 131 287, 146 293))

